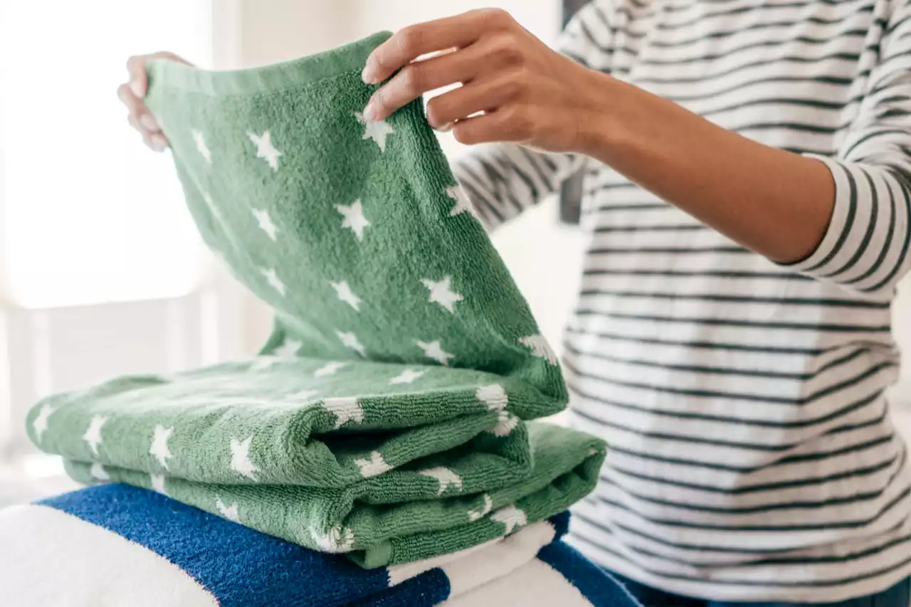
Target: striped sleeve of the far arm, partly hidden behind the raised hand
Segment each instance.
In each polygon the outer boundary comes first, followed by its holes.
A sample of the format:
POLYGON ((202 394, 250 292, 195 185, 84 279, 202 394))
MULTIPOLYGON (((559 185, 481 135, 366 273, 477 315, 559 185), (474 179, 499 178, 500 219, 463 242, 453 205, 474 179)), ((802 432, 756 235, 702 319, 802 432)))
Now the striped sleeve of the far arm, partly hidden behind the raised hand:
MULTIPOLYGON (((569 22, 558 49, 586 67, 609 71, 611 38, 609 15, 592 2, 569 22)), ((557 191, 584 161, 572 154, 500 143, 477 147, 456 160, 453 171, 481 221, 492 230, 557 191)))

